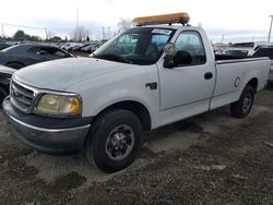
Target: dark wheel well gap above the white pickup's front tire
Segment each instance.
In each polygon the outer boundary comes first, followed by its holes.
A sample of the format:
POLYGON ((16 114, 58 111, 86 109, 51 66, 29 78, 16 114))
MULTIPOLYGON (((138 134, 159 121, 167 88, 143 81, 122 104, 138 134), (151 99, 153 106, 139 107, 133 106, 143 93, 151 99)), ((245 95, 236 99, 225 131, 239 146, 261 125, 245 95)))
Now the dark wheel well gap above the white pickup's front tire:
POLYGON ((126 109, 129 110, 131 112, 133 112, 135 116, 139 117, 139 119, 141 120, 141 123, 143 125, 143 129, 145 131, 151 130, 151 116, 146 109, 145 106, 143 106, 142 104, 138 102, 138 101, 120 101, 117 104, 114 104, 107 108, 105 108, 103 111, 100 111, 97 117, 108 110, 111 109, 126 109))

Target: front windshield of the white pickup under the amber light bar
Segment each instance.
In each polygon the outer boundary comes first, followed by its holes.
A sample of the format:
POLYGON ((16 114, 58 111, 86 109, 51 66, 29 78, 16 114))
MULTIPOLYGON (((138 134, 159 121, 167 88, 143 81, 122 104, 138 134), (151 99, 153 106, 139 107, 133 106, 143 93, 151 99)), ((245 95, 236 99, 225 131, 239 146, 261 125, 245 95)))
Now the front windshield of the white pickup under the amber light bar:
POLYGON ((116 36, 94 52, 94 58, 132 64, 154 64, 174 29, 140 27, 116 36))

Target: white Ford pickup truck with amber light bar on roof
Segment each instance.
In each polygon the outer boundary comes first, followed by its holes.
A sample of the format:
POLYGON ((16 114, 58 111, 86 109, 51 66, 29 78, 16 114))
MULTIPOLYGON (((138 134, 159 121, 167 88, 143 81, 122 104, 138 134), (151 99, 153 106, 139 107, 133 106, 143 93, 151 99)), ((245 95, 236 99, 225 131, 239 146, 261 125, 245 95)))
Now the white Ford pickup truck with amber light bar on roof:
POLYGON ((266 84, 270 60, 215 60, 202 28, 146 25, 181 20, 185 13, 136 19, 139 26, 93 58, 16 71, 3 101, 11 133, 47 154, 84 149, 100 170, 114 172, 132 164, 143 131, 229 104, 234 117, 246 117, 266 84))

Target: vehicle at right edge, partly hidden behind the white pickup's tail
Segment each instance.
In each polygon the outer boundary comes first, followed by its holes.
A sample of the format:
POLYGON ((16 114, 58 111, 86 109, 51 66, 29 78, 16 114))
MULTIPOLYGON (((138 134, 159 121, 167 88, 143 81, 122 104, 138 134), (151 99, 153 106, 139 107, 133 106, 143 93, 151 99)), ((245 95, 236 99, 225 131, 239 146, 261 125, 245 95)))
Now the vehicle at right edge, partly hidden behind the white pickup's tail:
POLYGON ((273 85, 273 46, 260 46, 256 49, 253 57, 269 57, 271 60, 271 70, 269 75, 269 84, 273 85))

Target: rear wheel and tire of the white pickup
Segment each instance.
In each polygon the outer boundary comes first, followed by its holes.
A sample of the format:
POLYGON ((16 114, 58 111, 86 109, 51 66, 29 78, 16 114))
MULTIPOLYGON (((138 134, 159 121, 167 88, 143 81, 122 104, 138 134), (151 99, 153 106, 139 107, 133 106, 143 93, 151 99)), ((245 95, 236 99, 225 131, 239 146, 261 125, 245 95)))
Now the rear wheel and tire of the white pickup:
POLYGON ((246 86, 241 93, 240 99, 230 105, 230 113, 235 118, 245 118, 251 111, 254 101, 254 89, 246 86))

